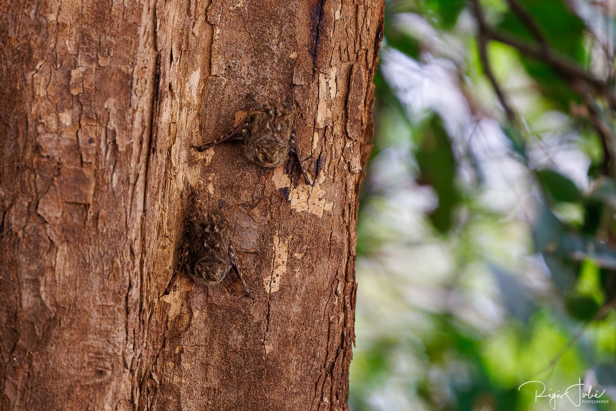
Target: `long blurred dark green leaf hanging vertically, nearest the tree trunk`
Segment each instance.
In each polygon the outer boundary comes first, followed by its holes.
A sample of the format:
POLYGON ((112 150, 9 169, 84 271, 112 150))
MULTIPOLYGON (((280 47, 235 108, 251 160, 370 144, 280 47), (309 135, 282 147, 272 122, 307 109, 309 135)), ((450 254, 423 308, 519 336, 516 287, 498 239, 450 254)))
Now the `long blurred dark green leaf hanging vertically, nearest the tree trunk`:
POLYGON ((456 160, 451 140, 436 115, 421 131, 420 138, 416 152, 419 182, 431 185, 439 197, 439 206, 429 217, 434 227, 444 233, 452 226, 453 211, 460 203, 460 194, 455 187, 456 160))

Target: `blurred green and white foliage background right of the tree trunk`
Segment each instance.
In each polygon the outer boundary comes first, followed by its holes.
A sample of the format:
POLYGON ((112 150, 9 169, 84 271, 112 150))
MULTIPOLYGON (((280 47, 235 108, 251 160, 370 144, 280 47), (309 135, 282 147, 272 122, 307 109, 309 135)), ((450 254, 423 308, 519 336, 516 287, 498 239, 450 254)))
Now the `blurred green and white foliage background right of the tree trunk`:
POLYGON ((615 13, 386 2, 351 410, 616 410, 615 13))

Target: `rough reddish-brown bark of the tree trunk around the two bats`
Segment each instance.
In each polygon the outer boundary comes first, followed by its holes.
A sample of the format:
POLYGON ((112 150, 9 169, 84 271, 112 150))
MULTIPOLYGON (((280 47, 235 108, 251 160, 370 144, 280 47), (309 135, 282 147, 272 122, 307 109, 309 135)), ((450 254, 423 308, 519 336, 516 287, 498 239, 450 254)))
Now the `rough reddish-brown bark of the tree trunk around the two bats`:
POLYGON ((383 1, 0 2, 3 410, 343 410, 383 1), (299 107, 293 161, 232 144, 299 107), (163 296, 195 187, 255 296, 163 296))

